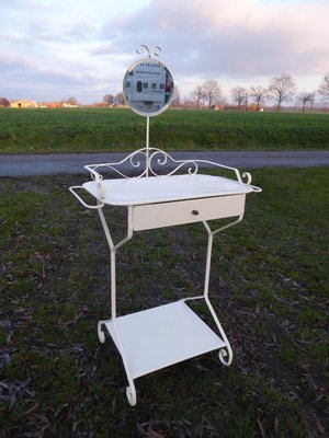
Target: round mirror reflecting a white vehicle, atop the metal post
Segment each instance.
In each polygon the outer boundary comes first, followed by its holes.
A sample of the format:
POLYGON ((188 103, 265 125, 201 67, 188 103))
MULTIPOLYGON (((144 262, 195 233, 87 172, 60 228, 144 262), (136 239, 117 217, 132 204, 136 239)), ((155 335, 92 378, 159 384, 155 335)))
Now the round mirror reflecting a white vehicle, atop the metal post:
POLYGON ((173 97, 173 79, 168 68, 156 59, 133 64, 123 81, 127 105, 141 116, 157 116, 173 97))

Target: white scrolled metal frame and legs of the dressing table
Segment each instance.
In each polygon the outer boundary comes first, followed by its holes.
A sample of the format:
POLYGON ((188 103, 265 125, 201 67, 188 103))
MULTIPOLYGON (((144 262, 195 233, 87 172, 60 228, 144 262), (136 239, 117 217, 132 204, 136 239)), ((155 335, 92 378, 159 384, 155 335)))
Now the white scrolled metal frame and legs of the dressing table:
MULTIPOLYGON (((205 161, 205 160, 174 160, 169 153, 156 149, 156 148, 143 148, 139 149, 131 154, 128 154, 125 159, 123 159, 120 162, 115 163, 102 163, 102 164, 89 164, 86 165, 84 168, 90 171, 92 180, 97 183, 98 186, 98 194, 99 194, 99 199, 97 200, 97 205, 89 205, 83 199, 78 195, 76 192, 79 188, 82 188, 81 186, 72 186, 70 187, 70 192, 81 201, 81 204, 84 207, 97 209, 100 216, 100 220, 106 237, 106 241, 109 244, 110 249, 110 260, 111 260, 111 322, 114 327, 115 332, 115 337, 116 337, 116 346, 120 350, 120 354, 122 356, 123 365, 125 368, 125 372, 127 376, 128 380, 128 387, 126 389, 126 395, 128 399, 128 402, 131 405, 135 405, 137 403, 137 395, 136 395, 136 388, 134 383, 134 378, 132 376, 131 369, 129 369, 129 364, 126 358, 126 354, 123 347, 122 338, 121 338, 121 333, 117 326, 117 314, 116 314, 116 253, 117 250, 123 246, 126 242, 128 242, 134 234, 133 230, 133 208, 134 206, 127 206, 127 232, 126 237, 121 240, 118 243, 114 243, 111 232, 107 227, 107 222, 104 216, 103 207, 104 204, 100 200, 100 198, 104 198, 105 193, 104 193, 104 187, 102 185, 103 181, 103 175, 100 173, 100 170, 103 171, 112 171, 116 175, 124 177, 124 178, 129 178, 132 177, 129 174, 132 174, 132 171, 137 172, 136 176, 133 177, 150 177, 150 176, 156 176, 156 177, 170 177, 171 175, 175 174, 177 172, 181 172, 185 170, 186 173, 189 174, 195 174, 197 173, 198 169, 201 165, 207 165, 207 166, 215 166, 215 168, 220 168, 224 170, 230 170, 235 173, 236 178, 238 180, 239 183, 246 184, 248 186, 251 186, 251 175, 249 173, 243 173, 240 175, 240 172, 235 169, 230 168, 227 165, 205 161), (131 171, 124 170, 125 165, 128 164, 131 171), (169 169, 168 169, 169 166, 169 169), (164 172, 164 174, 163 174, 164 172), (243 183, 242 178, 246 178, 247 182, 243 183)), ((261 188, 251 186, 254 192, 261 192, 261 188)), ((218 328, 218 332, 222 336, 222 339, 224 342, 224 346, 219 348, 218 350, 218 357, 219 360, 223 365, 229 366, 232 361, 232 350, 229 344, 229 341, 227 339, 227 336, 225 334, 225 331, 215 313, 215 310, 209 301, 208 297, 208 287, 209 287, 209 276, 211 276, 211 264, 212 264, 212 249, 213 249, 213 240, 214 235, 217 234, 218 232, 232 227, 240 222, 243 218, 243 212, 235 220, 231 222, 212 230, 207 221, 203 221, 203 224, 205 227, 205 230, 207 232, 208 239, 207 239, 207 253, 206 253, 206 263, 205 263, 205 277, 204 277, 204 291, 203 295, 196 296, 196 297, 189 297, 185 299, 182 299, 181 301, 190 301, 190 300, 198 300, 198 299, 204 299, 205 303, 207 304, 207 308, 213 316, 213 320, 218 328)), ((104 333, 104 324, 109 321, 99 321, 98 323, 98 335, 100 338, 101 343, 105 342, 105 333, 104 333)))

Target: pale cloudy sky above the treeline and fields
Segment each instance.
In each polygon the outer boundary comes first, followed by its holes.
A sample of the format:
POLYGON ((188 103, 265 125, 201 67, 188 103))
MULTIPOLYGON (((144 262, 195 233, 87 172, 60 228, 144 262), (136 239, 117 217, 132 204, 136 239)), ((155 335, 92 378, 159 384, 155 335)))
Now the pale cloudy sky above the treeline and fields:
POLYGON ((181 97, 205 80, 234 87, 292 74, 298 91, 329 73, 329 0, 0 0, 0 96, 102 102, 122 91, 136 48, 181 97))

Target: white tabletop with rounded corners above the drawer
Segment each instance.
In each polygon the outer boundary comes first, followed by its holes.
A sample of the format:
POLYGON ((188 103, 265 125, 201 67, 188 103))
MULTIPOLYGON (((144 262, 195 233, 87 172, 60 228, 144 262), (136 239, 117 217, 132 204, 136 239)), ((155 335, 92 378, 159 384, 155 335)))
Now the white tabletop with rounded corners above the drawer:
POLYGON ((228 196, 253 192, 252 186, 238 181, 212 175, 172 175, 103 180, 105 196, 98 194, 97 183, 90 181, 83 188, 104 204, 128 206, 174 200, 228 196))

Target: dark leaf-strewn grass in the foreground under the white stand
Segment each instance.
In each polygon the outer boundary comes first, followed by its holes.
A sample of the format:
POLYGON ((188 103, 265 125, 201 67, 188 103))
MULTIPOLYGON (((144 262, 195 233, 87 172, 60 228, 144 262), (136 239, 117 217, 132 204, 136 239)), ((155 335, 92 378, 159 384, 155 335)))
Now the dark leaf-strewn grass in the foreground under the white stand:
MULTIPOLYGON (((1 438, 327 437, 327 169, 253 172, 263 192, 214 244, 232 365, 213 353, 141 377, 134 408, 120 355, 97 336, 109 255, 97 212, 68 193, 82 178, 0 178, 1 438)), ((118 254, 118 312, 200 292, 205 243, 200 224, 136 233, 118 254)))

